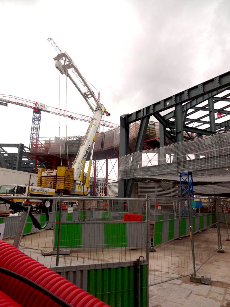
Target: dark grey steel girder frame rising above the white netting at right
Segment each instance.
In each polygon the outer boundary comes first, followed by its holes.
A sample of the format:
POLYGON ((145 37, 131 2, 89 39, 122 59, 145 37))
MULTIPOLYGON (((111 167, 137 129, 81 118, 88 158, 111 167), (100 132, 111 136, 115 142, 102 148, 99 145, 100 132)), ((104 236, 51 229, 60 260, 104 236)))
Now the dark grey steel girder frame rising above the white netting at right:
MULTIPOLYGON (((148 122, 152 115, 159 121, 160 147, 165 146, 166 137, 177 143, 183 142, 184 139, 200 138, 218 131, 229 130, 230 120, 223 120, 230 114, 230 98, 228 98, 230 92, 226 94, 226 91, 230 91, 230 72, 225 72, 133 113, 121 115, 119 156, 129 153, 129 125, 137 120, 141 120, 141 123, 134 152, 143 149, 148 122), (223 92, 225 94, 221 96, 223 92), (225 102, 226 106, 217 109, 215 103, 219 101, 225 102), (198 111, 203 111, 205 114, 201 116, 197 114, 196 117, 195 114, 198 111), (224 113, 224 115, 215 117, 217 113, 224 113)), ((130 197, 133 184, 134 179, 120 179, 118 197, 130 197)))

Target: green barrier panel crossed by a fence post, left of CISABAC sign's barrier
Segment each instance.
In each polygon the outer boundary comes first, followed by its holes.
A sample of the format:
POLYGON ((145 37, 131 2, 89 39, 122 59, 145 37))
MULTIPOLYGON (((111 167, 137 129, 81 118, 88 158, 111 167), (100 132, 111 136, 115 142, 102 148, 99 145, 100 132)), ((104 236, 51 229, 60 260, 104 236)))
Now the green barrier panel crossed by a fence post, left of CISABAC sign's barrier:
MULTIPOLYGON (((57 247, 58 225, 55 227, 55 247, 57 247)), ((82 224, 61 224, 61 248, 81 248, 82 247, 82 224)))

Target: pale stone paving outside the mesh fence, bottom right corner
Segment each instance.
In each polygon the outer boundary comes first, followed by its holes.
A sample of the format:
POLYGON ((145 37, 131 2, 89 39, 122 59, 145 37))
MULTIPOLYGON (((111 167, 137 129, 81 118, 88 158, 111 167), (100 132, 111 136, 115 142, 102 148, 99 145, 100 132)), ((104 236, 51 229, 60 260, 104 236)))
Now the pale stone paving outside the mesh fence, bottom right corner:
POLYGON ((149 287, 149 307, 230 307, 230 242, 225 253, 216 253, 197 272, 209 276, 211 284, 190 282, 183 277, 149 287))

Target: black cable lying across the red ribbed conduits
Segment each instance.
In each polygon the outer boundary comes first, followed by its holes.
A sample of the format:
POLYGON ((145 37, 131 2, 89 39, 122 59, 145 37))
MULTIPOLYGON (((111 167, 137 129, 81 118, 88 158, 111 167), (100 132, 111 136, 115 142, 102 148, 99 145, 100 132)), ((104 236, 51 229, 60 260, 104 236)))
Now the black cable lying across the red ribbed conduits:
POLYGON ((26 278, 26 277, 24 277, 24 276, 22 276, 20 274, 17 274, 17 273, 15 273, 13 271, 7 270, 7 269, 2 268, 2 267, 0 267, 0 273, 6 274, 6 275, 8 275, 10 277, 13 277, 13 278, 19 280, 20 282, 24 282, 28 286, 43 292, 45 295, 50 297, 54 302, 58 303, 59 305, 61 305, 63 307, 73 307, 73 305, 67 303, 66 301, 64 301, 63 299, 61 299, 60 297, 58 297, 54 293, 52 293, 49 290, 43 288, 42 286, 40 286, 36 282, 33 282, 32 280, 30 280, 29 278, 26 278))

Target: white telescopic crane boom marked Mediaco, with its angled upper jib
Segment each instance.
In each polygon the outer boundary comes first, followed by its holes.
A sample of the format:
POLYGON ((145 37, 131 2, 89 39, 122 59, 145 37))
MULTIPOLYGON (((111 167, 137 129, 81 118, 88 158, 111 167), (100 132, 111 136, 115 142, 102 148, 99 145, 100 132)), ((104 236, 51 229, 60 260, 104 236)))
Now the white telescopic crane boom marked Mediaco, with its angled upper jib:
MULTIPOLYGON (((50 41, 52 46, 60 52, 60 49, 54 43, 52 38, 48 38, 48 41, 50 41)), ((71 82, 77 88, 79 93, 85 99, 86 103, 90 107, 90 110, 94 113, 91 118, 90 125, 83 138, 78 154, 72 166, 75 170, 74 179, 76 180, 76 183, 77 183, 75 194, 78 194, 78 195, 87 194, 88 188, 90 188, 89 177, 90 177, 90 169, 91 169, 92 159, 93 159, 94 145, 95 145, 95 140, 97 137, 96 132, 101 122, 102 116, 104 114, 106 116, 110 116, 110 113, 105 109, 104 105, 100 102, 100 99, 97 99, 94 92, 92 91, 92 89, 90 88, 90 86, 88 85, 84 77, 82 76, 82 74, 79 72, 79 69, 77 68, 77 66, 71 59, 71 57, 67 54, 67 52, 60 52, 53 59, 55 61, 55 67, 59 70, 60 74, 67 76, 71 80, 71 82), (86 88, 87 91, 83 92, 80 89, 80 87, 75 82, 75 80, 72 78, 68 70, 71 70, 75 74, 75 76, 77 76, 77 78, 82 83, 83 87, 86 88), (96 106, 94 106, 94 104, 90 101, 90 98, 93 98, 96 106), (85 168, 86 158, 87 158, 87 155, 90 149, 91 149, 91 155, 90 155, 90 161, 89 161, 89 168, 88 168, 88 173, 86 177, 86 183, 84 185, 83 184, 84 168, 85 168)))

